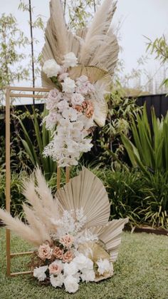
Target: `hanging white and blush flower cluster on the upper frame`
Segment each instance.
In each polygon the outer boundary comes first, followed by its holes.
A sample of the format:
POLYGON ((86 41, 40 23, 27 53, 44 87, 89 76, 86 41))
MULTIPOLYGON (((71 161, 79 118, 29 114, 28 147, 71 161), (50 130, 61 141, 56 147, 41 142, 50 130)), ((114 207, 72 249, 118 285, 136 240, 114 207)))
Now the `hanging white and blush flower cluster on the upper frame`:
POLYGON ((68 76, 68 67, 75 66, 77 59, 73 53, 66 54, 63 66, 54 59, 46 61, 43 71, 49 78, 56 78, 57 88, 48 93, 44 118, 46 128, 53 133, 52 141, 44 148, 44 156, 51 156, 58 166, 78 164, 80 153, 90 151, 93 146, 88 138, 94 126, 94 106, 91 98, 95 87, 87 76, 76 80, 68 76))

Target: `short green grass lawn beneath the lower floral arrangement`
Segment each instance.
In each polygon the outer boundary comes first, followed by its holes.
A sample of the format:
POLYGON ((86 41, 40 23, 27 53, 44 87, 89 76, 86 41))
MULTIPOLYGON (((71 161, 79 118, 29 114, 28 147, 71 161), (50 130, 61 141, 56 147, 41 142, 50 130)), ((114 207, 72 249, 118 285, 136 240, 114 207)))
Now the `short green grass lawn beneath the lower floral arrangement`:
MULTIPOLYGON (((30 245, 12 235, 13 252, 29 250, 30 245)), ((77 293, 39 285, 31 275, 6 278, 5 230, 0 229, 1 299, 168 299, 168 238, 146 233, 123 233, 115 275, 100 283, 80 283, 77 293)), ((12 270, 26 270, 28 256, 14 258, 12 270)))

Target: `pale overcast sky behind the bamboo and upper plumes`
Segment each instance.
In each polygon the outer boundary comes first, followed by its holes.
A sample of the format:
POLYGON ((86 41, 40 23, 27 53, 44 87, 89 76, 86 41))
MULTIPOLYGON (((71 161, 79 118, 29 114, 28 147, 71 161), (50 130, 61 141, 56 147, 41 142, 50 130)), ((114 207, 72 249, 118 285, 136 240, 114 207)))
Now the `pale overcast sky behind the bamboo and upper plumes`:
MULTIPOLYGON (((28 0, 26 0, 28 2, 28 0)), ((34 15, 41 14, 47 21, 49 16, 49 0, 31 0, 35 6, 34 15)), ((29 28, 27 23, 27 14, 18 11, 19 0, 0 0, 1 13, 14 14, 21 30, 28 35, 29 28)), ((145 55, 147 40, 156 39, 162 34, 168 35, 167 26, 168 1, 167 0, 118 0, 117 10, 115 11, 114 24, 117 26, 120 22, 120 58, 125 63, 125 74, 133 68, 137 68, 137 59, 145 55)), ((35 46, 36 54, 41 52, 43 47, 43 34, 40 31, 34 33, 39 44, 35 46)), ((31 49, 26 49, 31 51, 31 49)), ((153 58, 147 62, 147 69, 154 72, 159 68, 159 63, 153 58)), ((28 83, 26 83, 27 85, 28 83)), ((25 84, 24 84, 25 85, 25 84)), ((39 83, 38 83, 39 85, 39 83)))

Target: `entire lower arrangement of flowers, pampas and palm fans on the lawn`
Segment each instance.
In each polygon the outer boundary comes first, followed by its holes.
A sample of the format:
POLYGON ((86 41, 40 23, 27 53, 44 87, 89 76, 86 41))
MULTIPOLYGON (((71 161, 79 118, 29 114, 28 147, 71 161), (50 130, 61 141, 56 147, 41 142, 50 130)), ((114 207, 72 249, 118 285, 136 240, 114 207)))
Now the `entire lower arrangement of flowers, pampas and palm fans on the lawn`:
POLYGON ((108 221, 110 203, 103 183, 83 168, 55 198, 39 168, 24 182, 26 223, 0 208, 6 228, 36 246, 33 276, 45 285, 75 293, 79 283, 113 275, 121 233, 128 219, 108 221))

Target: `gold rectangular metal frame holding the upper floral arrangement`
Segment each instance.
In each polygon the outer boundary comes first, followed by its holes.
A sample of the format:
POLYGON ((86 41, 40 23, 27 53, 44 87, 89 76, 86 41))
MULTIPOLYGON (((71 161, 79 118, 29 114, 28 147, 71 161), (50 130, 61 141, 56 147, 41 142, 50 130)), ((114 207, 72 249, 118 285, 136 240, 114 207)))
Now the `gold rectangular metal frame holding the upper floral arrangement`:
MULTIPOLYGON (((6 87, 6 211, 10 213, 11 203, 11 159, 10 159, 10 106, 11 98, 46 98, 50 91, 48 88, 31 88, 31 87, 6 87), (16 92, 14 92, 16 91, 16 92), (28 92, 28 93, 23 93, 28 92), (37 94, 36 94, 37 93, 37 94), (39 94, 44 93, 44 94, 39 94)), ((65 169, 65 181, 68 183, 70 177, 70 168, 65 169)), ((60 188, 61 184, 61 168, 57 168, 57 188, 60 188)), ((16 276, 21 274, 30 274, 31 271, 15 272, 11 273, 11 258, 30 255, 30 252, 23 253, 11 253, 11 231, 6 229, 6 273, 8 276, 16 276)))

